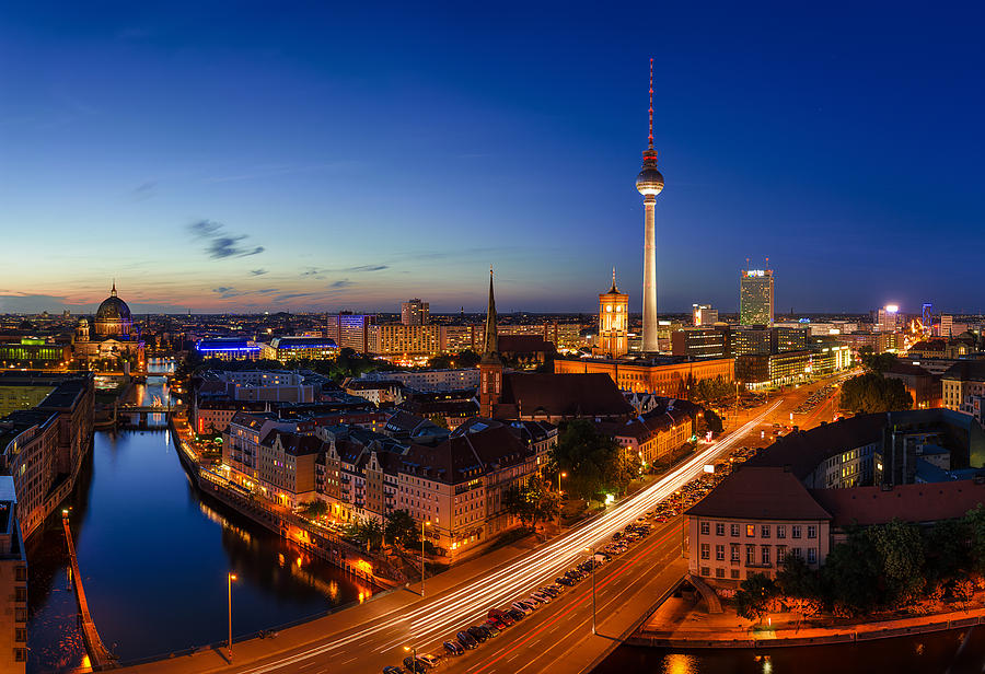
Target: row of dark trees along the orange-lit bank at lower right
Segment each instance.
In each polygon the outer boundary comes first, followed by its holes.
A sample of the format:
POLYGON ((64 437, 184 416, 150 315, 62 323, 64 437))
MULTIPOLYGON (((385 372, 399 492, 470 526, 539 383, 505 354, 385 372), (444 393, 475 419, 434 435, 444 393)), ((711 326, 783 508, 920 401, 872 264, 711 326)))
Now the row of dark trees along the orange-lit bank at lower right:
POLYGON ((750 576, 735 593, 735 608, 749 619, 762 619, 775 602, 804 616, 853 616, 946 595, 967 602, 976 586, 985 586, 983 579, 985 508, 978 504, 960 520, 932 526, 899 520, 849 526, 820 569, 787 557, 775 580, 750 576))

